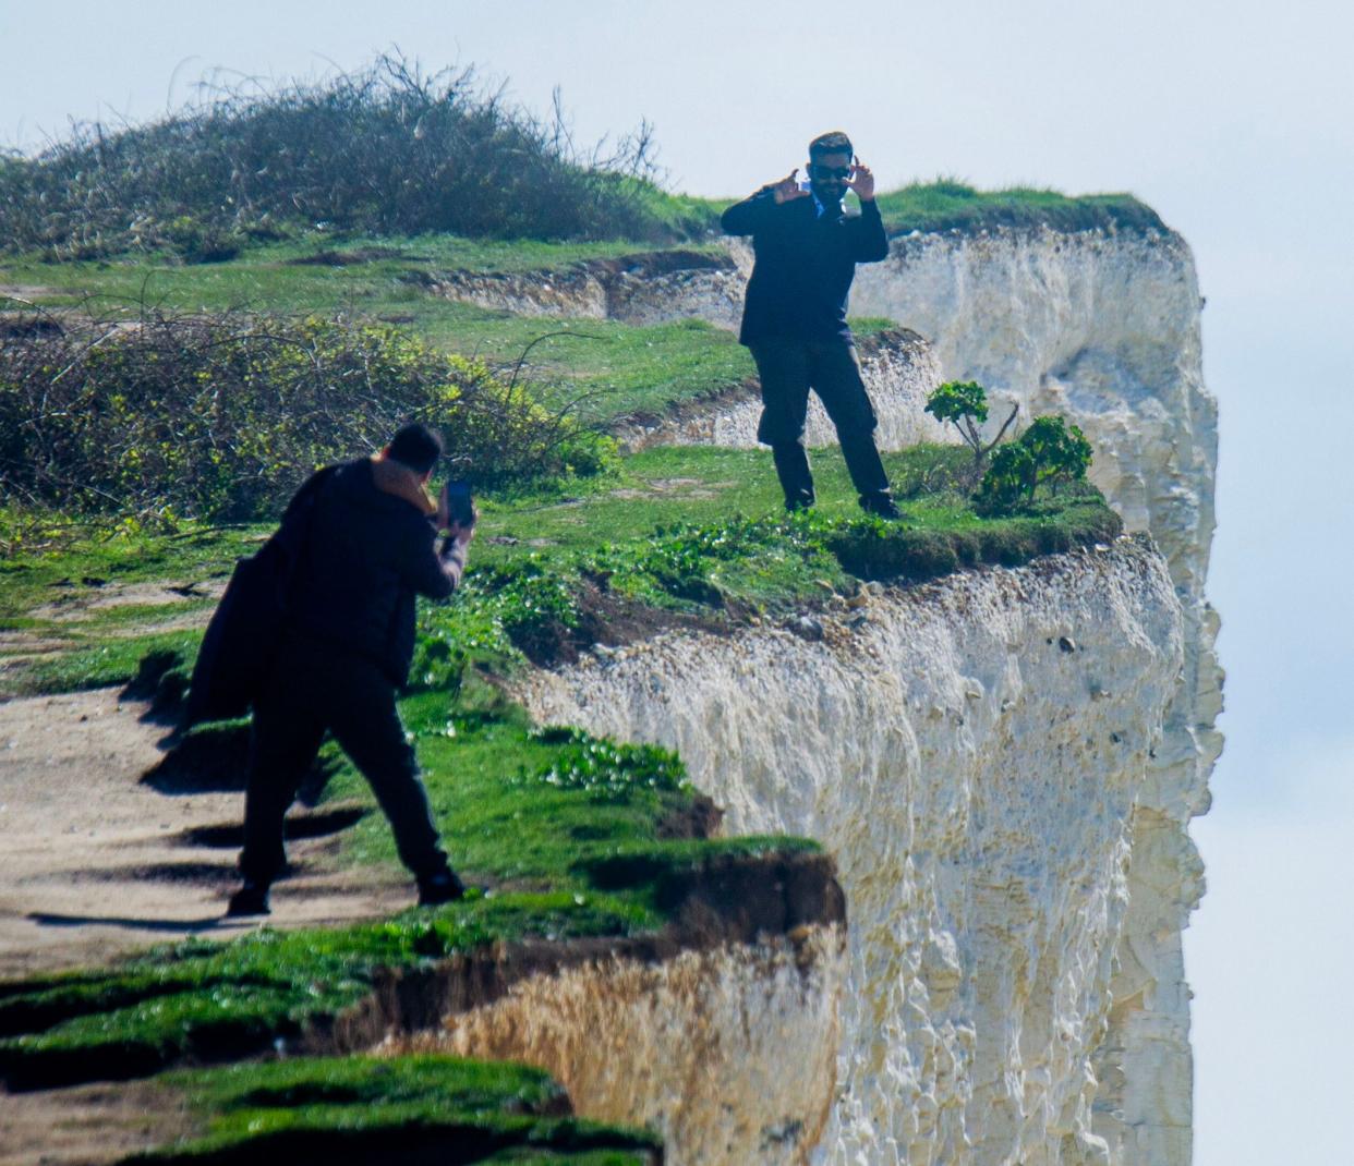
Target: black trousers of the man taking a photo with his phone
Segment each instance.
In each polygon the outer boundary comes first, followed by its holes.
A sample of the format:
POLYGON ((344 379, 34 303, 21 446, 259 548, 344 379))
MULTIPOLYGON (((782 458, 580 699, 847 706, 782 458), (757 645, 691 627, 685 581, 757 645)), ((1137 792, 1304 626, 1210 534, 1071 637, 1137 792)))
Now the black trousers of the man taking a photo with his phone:
POLYGON ((288 638, 255 701, 241 874, 267 886, 286 867, 283 817, 326 730, 375 793, 403 864, 420 879, 447 870, 394 684, 359 656, 288 638))

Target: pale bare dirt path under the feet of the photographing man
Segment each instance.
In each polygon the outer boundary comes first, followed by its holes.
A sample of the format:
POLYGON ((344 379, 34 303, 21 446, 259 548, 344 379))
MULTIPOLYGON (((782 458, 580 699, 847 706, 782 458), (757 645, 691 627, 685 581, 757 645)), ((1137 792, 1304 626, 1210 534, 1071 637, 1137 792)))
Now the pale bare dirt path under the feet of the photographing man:
MULTIPOLYGON (((255 925, 221 917, 242 794, 142 783, 165 734, 145 713, 115 689, 0 703, 0 979, 255 925)), ((288 845, 299 871, 274 893, 271 925, 409 905, 397 872, 337 868, 336 845, 333 833, 288 845)))

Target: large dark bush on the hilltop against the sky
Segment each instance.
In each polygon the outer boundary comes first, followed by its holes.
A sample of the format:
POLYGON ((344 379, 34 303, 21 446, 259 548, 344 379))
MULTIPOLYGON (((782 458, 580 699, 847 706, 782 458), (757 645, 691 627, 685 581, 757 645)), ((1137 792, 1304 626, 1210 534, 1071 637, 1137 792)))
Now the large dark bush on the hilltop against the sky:
POLYGON ((318 85, 215 92, 161 122, 84 124, 38 158, 0 157, 0 239, 57 260, 171 250, 218 262, 253 239, 379 234, 680 238, 704 208, 653 184, 650 130, 580 151, 473 69, 399 57, 318 85))

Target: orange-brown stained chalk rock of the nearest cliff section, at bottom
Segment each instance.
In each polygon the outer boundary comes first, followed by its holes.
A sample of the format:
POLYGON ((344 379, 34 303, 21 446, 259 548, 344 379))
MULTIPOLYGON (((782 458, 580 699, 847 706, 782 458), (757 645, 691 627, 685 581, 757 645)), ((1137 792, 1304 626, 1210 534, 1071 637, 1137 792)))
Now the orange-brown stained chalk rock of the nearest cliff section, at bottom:
POLYGON ((845 969, 839 925, 662 963, 607 959, 524 979, 378 1051, 538 1065, 581 1116, 658 1129, 668 1166, 791 1166, 835 1096, 845 969))

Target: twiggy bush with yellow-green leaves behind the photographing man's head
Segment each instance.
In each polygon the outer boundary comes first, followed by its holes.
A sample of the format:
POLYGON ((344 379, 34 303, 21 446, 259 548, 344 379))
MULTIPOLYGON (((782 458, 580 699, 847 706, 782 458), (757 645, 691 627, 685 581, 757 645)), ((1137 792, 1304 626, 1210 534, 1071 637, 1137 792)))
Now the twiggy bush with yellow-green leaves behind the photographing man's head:
POLYGON ((0 488, 104 514, 265 518, 405 421, 478 488, 596 473, 609 441, 387 325, 169 317, 0 338, 0 488))

